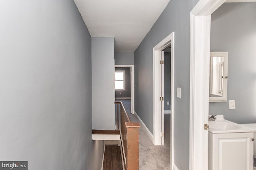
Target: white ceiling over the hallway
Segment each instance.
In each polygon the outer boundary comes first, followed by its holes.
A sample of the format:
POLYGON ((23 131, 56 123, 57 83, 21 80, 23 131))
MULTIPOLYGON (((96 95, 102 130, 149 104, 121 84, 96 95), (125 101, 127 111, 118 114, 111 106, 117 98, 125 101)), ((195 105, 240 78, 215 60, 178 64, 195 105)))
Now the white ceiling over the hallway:
POLYGON ((92 37, 114 37, 134 52, 170 0, 74 0, 92 37))

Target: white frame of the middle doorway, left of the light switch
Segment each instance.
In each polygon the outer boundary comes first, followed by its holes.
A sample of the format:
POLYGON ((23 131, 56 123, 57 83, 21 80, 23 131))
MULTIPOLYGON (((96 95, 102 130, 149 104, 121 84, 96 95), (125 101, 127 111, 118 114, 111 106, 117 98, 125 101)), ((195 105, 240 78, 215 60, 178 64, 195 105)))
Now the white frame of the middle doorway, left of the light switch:
MULTIPOLYGON (((162 50, 168 47, 171 44, 171 129, 170 129, 170 148, 171 148, 171 169, 174 160, 174 150, 173 150, 173 131, 174 131, 174 32, 168 35, 163 39, 158 45, 153 48, 153 126, 154 126, 154 145, 162 145, 162 115, 161 115, 161 102, 160 96, 161 91, 159 83, 161 81, 161 72, 160 72, 160 57, 162 56, 162 50)), ((162 108, 164 111, 164 108, 162 108)))

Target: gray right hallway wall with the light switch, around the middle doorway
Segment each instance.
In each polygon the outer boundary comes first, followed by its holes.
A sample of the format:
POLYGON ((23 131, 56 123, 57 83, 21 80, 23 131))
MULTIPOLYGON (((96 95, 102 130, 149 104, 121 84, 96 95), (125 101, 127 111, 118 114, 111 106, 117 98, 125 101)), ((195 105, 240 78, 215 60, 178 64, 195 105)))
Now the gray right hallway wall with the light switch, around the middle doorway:
POLYGON ((135 111, 153 133, 153 47, 170 33, 174 40, 174 163, 189 169, 190 11, 198 0, 171 0, 134 52, 135 111), (177 122, 177 123, 175 123, 177 122))

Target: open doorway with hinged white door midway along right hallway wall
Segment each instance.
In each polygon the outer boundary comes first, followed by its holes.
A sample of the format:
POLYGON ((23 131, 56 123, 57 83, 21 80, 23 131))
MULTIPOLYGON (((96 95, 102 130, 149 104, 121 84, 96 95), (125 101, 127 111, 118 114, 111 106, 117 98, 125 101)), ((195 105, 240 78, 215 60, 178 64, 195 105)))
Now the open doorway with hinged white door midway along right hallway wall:
POLYGON ((170 167, 172 169, 172 164, 174 160, 174 152, 173 152, 173 131, 174 131, 174 62, 173 62, 173 54, 174 54, 174 33, 168 35, 165 39, 163 39, 158 45, 156 45, 153 49, 153 80, 154 80, 154 88, 153 88, 153 113, 154 113, 154 145, 164 145, 165 138, 170 139, 170 167), (170 47, 170 48, 169 48, 170 47), (166 51, 166 58, 170 67, 166 67, 166 72, 164 69, 164 64, 168 65, 165 58, 165 51, 166 51), (168 53, 168 51, 170 51, 168 53), (167 74, 167 69, 170 69, 169 75, 167 74), (166 76, 164 74, 166 73, 166 76), (166 79, 170 81, 169 86, 167 85, 164 87, 164 80, 166 79), (165 88, 166 92, 165 93, 165 88), (169 104, 167 104, 169 102, 169 104), (165 107, 166 106, 166 107, 165 107), (167 108, 170 108, 167 109, 167 108), (166 108, 166 109, 165 109, 166 108), (166 111, 164 111, 166 110, 166 111), (164 114, 169 112, 168 114, 164 114), (165 118, 166 117, 166 118, 165 118), (168 118, 169 117, 169 118, 168 118), (169 119, 170 123, 167 125, 165 123, 165 119, 169 119), (166 131, 166 135, 164 134, 164 125, 166 127, 169 126, 170 136, 168 136, 168 131, 166 131))

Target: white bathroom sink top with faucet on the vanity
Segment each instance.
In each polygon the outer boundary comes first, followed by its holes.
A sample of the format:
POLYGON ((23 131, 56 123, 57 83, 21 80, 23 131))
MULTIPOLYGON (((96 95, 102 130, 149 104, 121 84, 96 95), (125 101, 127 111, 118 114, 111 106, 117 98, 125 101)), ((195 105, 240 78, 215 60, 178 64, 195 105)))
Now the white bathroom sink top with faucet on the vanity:
POLYGON ((252 128, 224 119, 223 115, 216 115, 215 117, 215 121, 209 121, 208 123, 210 133, 239 133, 254 131, 252 128))

